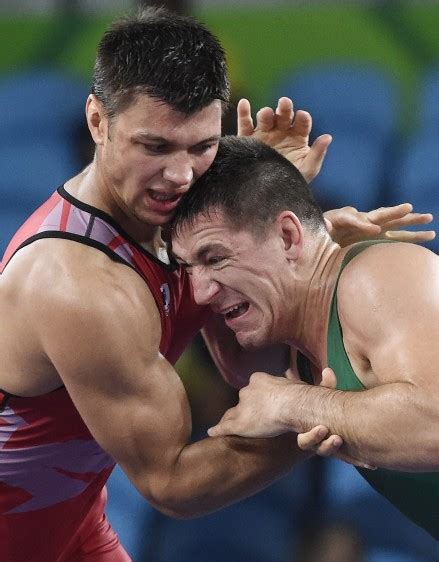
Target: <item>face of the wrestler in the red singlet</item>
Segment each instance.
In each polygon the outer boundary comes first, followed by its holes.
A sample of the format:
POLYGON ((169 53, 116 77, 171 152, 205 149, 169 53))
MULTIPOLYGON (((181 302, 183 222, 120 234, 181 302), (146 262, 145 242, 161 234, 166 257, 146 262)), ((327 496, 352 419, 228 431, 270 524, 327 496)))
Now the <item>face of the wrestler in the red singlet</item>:
POLYGON ((119 207, 142 223, 167 223, 194 180, 215 158, 221 102, 189 117, 164 102, 139 95, 109 124, 99 164, 119 207))

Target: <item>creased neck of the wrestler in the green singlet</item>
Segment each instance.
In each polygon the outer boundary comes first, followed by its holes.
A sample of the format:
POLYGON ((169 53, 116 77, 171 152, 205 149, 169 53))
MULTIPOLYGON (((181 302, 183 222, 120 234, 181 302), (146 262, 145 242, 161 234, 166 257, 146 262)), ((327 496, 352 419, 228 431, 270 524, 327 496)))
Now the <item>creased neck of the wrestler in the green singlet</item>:
POLYGON ((337 274, 345 250, 335 244, 329 235, 306 240, 299 258, 292 287, 294 294, 287 302, 290 318, 288 343, 299 349, 320 369, 327 365, 326 336, 329 310, 337 274))

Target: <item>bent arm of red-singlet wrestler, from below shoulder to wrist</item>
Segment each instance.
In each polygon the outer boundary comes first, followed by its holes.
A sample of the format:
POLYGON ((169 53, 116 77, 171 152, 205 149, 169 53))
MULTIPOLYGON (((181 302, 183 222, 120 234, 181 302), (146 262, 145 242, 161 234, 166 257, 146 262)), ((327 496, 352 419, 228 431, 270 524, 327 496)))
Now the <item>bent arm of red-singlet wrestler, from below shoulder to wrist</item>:
POLYGON ((119 264, 84 271, 70 263, 47 299, 41 290, 42 345, 92 435, 154 506, 202 515, 255 493, 308 455, 293 435, 188 444, 188 402, 158 351, 160 318, 145 283, 119 264))

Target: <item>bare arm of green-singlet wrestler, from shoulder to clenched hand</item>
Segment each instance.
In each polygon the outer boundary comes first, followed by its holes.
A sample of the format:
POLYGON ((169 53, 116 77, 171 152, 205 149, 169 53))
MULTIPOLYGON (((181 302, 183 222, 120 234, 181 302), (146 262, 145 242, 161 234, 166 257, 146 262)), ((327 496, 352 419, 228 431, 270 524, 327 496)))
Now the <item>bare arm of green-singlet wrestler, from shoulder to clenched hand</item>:
POLYGON ((341 452, 365 464, 437 471, 437 256, 411 245, 370 248, 348 265, 338 296, 346 350, 366 389, 336 391, 259 373, 211 433, 278 435, 323 424, 343 438, 341 452))

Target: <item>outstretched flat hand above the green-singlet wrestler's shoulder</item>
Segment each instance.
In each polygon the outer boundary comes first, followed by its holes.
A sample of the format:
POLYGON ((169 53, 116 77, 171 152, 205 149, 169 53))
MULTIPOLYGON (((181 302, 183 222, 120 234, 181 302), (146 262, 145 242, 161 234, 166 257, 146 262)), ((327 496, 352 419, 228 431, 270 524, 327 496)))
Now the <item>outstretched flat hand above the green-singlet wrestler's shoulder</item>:
POLYGON ((327 211, 324 217, 331 238, 340 246, 378 238, 400 242, 433 240, 436 236, 433 230, 399 230, 406 226, 428 224, 433 220, 429 213, 413 213, 412 210, 410 203, 380 207, 368 213, 357 211, 354 207, 343 207, 327 211))

